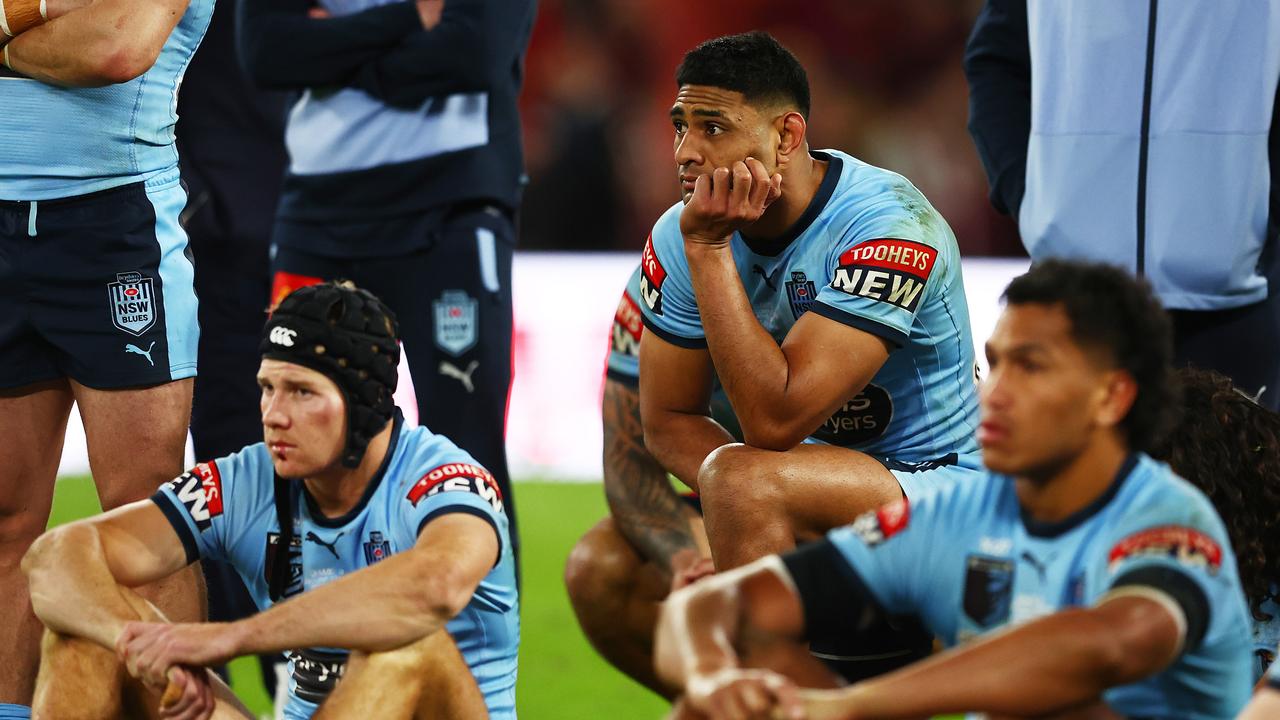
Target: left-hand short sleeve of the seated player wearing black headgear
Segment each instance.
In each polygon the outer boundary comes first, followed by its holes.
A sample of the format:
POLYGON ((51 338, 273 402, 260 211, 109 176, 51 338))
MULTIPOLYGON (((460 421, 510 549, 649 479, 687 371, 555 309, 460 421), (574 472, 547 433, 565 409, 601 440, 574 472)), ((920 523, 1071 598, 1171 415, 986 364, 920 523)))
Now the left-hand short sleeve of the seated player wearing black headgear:
POLYGON ((234 462, 201 462, 160 486, 151 496, 187 551, 187 562, 227 560, 227 491, 234 480, 234 462))

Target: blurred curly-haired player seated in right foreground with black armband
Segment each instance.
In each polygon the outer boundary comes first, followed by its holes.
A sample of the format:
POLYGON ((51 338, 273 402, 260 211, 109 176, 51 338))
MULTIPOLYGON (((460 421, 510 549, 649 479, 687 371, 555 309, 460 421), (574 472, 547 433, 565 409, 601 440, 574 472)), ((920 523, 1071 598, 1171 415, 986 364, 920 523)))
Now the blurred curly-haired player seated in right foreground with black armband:
MULTIPOLYGON (((1046 261, 987 343, 988 477, 888 505, 826 539, 676 594, 659 671, 689 715, 922 717, 1117 712, 1228 719, 1249 692, 1235 556, 1208 498, 1144 455, 1172 409, 1169 319, 1103 265, 1046 261), (947 646, 837 691, 740 659, 915 615, 947 646)), ((790 670, 788 670, 790 673, 790 670)))

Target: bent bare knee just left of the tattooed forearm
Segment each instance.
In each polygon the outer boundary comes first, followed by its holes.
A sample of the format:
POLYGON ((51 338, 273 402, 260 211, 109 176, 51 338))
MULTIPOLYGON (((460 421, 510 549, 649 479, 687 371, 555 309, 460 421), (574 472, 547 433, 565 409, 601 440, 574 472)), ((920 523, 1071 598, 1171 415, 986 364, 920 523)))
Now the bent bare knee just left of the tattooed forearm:
POLYGON ((623 596, 632 584, 640 559, 612 518, 588 530, 564 564, 564 588, 581 615, 602 607, 609 597, 623 596))

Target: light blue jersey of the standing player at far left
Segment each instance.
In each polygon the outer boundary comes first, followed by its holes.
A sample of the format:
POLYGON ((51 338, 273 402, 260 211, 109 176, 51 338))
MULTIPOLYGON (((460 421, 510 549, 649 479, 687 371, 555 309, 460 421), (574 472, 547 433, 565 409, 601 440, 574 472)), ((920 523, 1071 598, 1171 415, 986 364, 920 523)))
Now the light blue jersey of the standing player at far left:
POLYGON ((214 14, 189 0, 155 65, 120 85, 67 88, 0 74, 0 200, 52 200, 178 179, 178 86, 214 14))

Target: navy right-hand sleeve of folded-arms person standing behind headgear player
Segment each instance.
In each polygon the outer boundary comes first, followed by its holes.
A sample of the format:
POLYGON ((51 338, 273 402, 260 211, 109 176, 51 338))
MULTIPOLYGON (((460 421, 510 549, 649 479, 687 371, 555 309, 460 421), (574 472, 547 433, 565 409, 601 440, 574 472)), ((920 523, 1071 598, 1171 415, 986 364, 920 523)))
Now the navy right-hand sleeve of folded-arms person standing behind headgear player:
POLYGON ((416 109, 429 97, 489 88, 504 42, 490 27, 485 0, 448 0, 440 23, 406 36, 365 63, 348 83, 383 102, 416 109))

